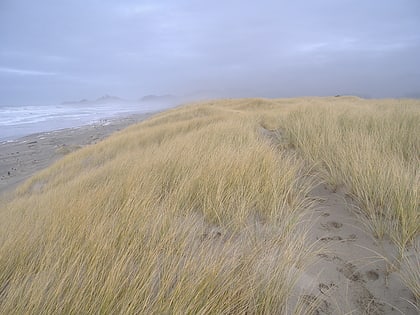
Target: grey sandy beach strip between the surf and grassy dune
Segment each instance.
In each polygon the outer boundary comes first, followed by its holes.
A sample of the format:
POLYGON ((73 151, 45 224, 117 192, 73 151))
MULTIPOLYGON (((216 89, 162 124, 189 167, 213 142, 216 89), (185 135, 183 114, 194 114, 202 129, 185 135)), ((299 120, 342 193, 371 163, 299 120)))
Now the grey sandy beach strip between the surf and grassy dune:
POLYGON ((95 144, 158 112, 101 119, 93 124, 34 133, 0 143, 0 197, 64 155, 95 144))

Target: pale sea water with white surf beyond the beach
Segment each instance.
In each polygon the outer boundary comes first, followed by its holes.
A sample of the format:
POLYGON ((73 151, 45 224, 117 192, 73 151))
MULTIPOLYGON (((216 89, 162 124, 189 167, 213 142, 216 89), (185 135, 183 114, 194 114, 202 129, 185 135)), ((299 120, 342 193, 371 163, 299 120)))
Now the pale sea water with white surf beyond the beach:
POLYGON ((75 128, 103 119, 169 108, 171 104, 106 103, 41 106, 0 106, 0 143, 52 130, 75 128))

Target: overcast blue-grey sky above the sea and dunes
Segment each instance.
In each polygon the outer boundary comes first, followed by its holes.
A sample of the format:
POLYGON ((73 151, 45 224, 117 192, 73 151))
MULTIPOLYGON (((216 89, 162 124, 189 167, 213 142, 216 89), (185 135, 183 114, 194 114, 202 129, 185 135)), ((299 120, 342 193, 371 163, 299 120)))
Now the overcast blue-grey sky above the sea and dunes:
POLYGON ((420 97, 419 0, 0 0, 0 105, 420 97))

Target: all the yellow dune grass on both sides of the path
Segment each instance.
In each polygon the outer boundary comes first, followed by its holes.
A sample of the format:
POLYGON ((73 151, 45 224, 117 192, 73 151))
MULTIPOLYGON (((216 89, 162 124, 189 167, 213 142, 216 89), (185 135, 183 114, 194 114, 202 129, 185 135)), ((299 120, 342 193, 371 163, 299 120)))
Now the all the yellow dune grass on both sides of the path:
POLYGON ((308 171, 346 186, 378 237, 408 246, 419 107, 205 102, 71 153, 0 207, 0 313, 305 314, 308 171))

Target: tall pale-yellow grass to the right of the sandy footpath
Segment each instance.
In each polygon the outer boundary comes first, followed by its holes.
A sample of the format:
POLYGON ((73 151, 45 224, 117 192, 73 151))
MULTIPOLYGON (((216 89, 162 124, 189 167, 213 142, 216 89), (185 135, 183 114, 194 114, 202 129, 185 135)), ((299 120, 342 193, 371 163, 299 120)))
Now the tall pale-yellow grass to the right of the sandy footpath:
POLYGON ((282 123, 333 186, 345 185, 377 237, 405 248, 420 232, 420 103, 337 100, 282 123))

